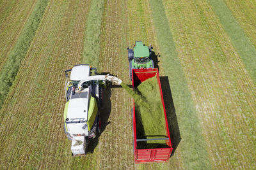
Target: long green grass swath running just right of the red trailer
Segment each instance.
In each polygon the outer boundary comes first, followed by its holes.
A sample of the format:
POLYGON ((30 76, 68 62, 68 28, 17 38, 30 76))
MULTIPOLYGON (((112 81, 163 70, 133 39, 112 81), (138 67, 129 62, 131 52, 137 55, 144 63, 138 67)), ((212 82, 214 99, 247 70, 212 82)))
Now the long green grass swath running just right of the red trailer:
POLYGON ((187 169, 209 169, 208 154, 202 137, 202 128, 195 111, 195 106, 188 90, 188 85, 179 57, 175 49, 172 32, 164 11, 162 1, 150 0, 152 18, 156 30, 157 43, 161 56, 164 74, 168 75, 172 89, 173 103, 177 113, 182 138, 180 147, 182 162, 187 169))

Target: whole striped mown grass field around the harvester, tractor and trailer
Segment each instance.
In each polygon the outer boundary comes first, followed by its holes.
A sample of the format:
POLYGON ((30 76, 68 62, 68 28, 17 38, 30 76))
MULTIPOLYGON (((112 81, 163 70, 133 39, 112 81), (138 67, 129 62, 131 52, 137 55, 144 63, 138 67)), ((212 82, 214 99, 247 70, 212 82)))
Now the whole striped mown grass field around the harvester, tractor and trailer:
MULTIPOLYGON (((38 2, 0 1, 0 70, 38 2)), ((49 0, 0 110, 0 169, 255 168, 256 3, 214 2, 49 0), (162 89, 170 85, 175 152, 166 163, 134 164, 132 98, 115 86, 104 92, 92 153, 71 157, 63 71, 90 64, 131 84, 126 48, 136 40, 154 46, 162 89)))

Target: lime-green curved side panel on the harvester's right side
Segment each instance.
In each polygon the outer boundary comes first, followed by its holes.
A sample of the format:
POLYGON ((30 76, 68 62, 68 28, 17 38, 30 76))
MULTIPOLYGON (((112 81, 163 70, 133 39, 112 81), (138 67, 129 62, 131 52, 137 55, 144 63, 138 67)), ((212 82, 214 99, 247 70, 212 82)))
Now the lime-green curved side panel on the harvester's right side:
POLYGON ((89 110, 88 110, 88 118, 87 118, 88 131, 90 131, 92 128, 97 112, 98 112, 97 101, 94 97, 91 96, 89 110))

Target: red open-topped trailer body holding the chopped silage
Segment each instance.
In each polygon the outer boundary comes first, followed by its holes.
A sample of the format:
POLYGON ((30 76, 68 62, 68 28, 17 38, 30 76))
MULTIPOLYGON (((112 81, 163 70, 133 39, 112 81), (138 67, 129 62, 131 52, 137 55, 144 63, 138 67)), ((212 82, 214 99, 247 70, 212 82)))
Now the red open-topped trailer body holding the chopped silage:
MULTIPOLYGON (((156 76, 157 83, 159 85, 159 91, 161 96, 161 102, 163 104, 163 114, 165 117, 165 130, 166 136, 164 138, 154 138, 154 139, 138 139, 136 135, 136 107, 133 102, 132 109, 132 129, 133 129, 133 137, 134 137, 134 159, 136 163, 147 163, 147 162, 167 162, 172 154, 172 143, 170 139, 170 133, 168 128, 168 122, 166 118, 166 110, 164 107, 164 99, 163 92, 161 89, 161 83, 159 78, 158 69, 132 69, 132 87, 136 87, 140 85, 141 82, 147 80, 148 78, 152 78, 156 76), (147 142, 153 140, 164 140, 165 144, 162 147, 157 148, 140 148, 138 147, 138 143, 147 142)), ((146 146, 147 147, 147 146, 146 146)))

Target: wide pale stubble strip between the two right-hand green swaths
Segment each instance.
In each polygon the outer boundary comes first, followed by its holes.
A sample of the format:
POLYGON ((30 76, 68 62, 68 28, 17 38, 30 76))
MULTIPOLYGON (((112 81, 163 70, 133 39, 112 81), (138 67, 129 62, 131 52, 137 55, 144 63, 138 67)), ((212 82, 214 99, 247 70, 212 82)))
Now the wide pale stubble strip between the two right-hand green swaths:
POLYGON ((243 62, 205 1, 165 0, 164 6, 212 167, 250 169, 255 86, 243 62))

